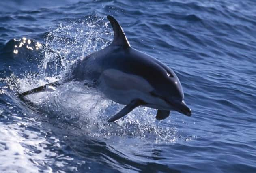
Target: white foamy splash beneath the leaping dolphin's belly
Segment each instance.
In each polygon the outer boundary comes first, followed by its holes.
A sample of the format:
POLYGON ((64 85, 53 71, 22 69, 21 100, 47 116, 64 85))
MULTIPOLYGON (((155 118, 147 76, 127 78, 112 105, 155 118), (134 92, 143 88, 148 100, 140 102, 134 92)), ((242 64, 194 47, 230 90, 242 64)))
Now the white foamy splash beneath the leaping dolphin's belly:
MULTIPOLYGON (((57 126, 79 129, 79 133, 96 139, 113 137, 139 138, 146 141, 174 142, 183 139, 175 127, 155 120, 156 111, 147 107, 134 109, 126 117, 108 123, 123 105, 105 98, 97 89, 86 88, 83 83, 69 82, 54 93, 29 96, 36 107, 57 126), (68 127, 67 127, 68 125, 68 127)), ((112 140, 110 140, 112 141, 112 140)))

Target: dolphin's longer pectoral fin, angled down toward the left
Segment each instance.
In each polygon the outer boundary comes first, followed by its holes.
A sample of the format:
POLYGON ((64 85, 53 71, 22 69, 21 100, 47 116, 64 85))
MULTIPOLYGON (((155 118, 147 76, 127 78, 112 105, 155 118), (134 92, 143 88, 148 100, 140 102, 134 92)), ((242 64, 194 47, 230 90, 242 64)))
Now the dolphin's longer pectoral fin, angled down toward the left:
POLYGON ((108 119, 108 122, 113 122, 115 120, 118 120, 121 117, 124 117, 127 115, 127 113, 131 112, 134 108, 142 105, 142 101, 140 100, 134 100, 128 105, 126 105, 120 112, 118 112, 116 115, 112 116, 110 119, 108 119))

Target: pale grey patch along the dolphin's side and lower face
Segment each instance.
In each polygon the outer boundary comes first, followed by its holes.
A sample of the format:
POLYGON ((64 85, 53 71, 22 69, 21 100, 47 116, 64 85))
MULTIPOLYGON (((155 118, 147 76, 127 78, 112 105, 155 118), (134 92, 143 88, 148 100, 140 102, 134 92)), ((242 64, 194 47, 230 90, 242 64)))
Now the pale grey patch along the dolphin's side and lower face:
POLYGON ((162 99, 152 96, 153 87, 144 78, 127 74, 115 69, 103 71, 100 77, 100 89, 111 100, 127 105, 133 100, 142 100, 146 106, 161 110, 170 110, 162 99))

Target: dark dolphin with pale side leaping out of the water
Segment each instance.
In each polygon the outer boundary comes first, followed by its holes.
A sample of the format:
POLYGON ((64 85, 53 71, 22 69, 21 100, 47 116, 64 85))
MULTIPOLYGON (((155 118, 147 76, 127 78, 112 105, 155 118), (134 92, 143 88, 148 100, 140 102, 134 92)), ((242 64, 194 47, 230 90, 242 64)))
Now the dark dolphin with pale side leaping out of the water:
MULTIPOLYGON (((77 60, 69 80, 90 81, 88 86, 97 86, 109 99, 126 105, 108 122, 124 117, 139 106, 157 109, 157 120, 167 118, 172 110, 191 116, 191 109, 184 102, 183 89, 174 71, 131 47, 116 19, 110 15, 107 18, 114 31, 112 43, 77 60)), ((49 83, 23 92, 20 96, 41 92, 62 83, 49 83)))

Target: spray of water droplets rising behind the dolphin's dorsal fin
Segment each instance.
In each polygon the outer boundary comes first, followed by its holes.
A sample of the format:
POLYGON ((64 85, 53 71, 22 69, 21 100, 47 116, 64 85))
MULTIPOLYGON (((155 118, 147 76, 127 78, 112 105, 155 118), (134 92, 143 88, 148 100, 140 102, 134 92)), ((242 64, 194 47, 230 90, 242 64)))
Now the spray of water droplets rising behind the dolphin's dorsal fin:
POLYGON ((50 70, 53 76, 57 76, 67 72, 78 58, 107 46, 111 36, 108 22, 97 16, 60 23, 46 36, 41 73, 50 70))

